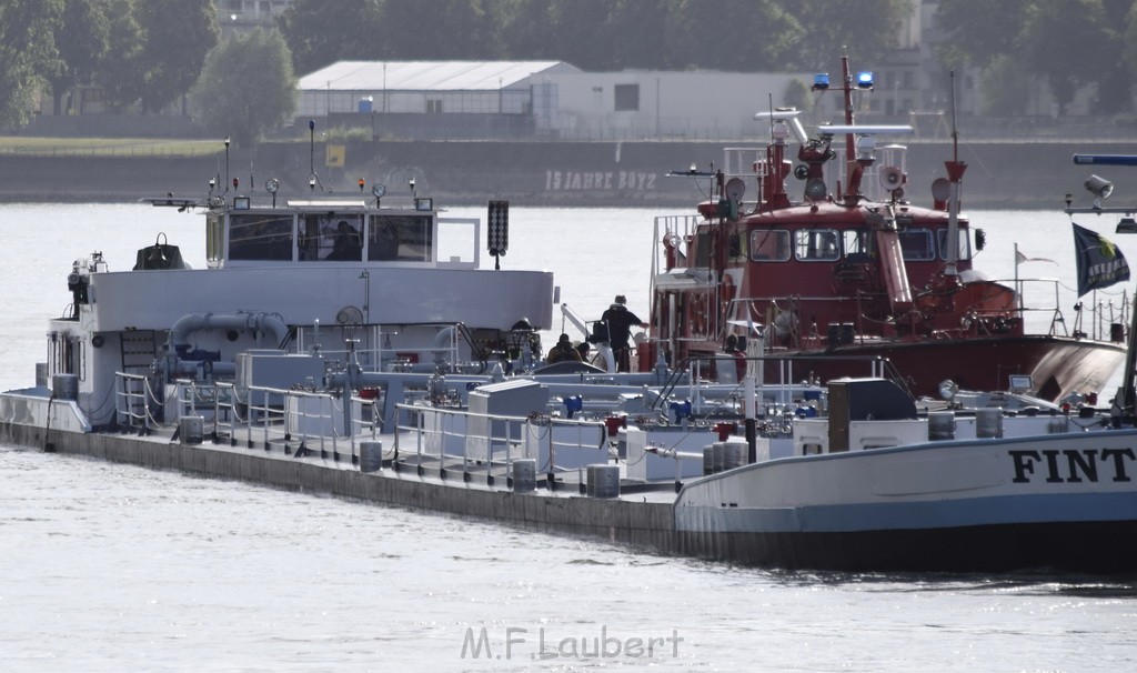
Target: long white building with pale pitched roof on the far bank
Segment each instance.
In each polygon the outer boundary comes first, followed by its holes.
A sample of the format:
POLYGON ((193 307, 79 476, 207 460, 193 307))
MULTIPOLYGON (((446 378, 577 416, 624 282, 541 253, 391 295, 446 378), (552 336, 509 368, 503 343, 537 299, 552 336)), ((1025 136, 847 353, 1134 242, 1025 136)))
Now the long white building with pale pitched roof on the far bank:
MULTIPOLYGON (((533 133, 589 138, 744 138, 757 111, 785 107, 812 74, 628 70, 586 73, 563 61, 339 61, 299 81, 299 119, 340 115, 513 115, 533 133)), ((818 94, 818 121, 839 109, 818 94)), ((813 101, 811 101, 811 105, 813 101)), ((439 127, 442 119, 435 118, 439 127)))

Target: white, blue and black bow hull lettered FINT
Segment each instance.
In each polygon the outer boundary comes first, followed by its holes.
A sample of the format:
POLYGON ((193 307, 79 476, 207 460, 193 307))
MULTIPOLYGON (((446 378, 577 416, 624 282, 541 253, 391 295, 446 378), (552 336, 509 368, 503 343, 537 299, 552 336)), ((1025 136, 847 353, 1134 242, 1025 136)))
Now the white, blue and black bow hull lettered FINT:
POLYGON ((675 502, 681 546, 779 567, 1126 570, 1137 430, 932 442, 713 475, 675 502))

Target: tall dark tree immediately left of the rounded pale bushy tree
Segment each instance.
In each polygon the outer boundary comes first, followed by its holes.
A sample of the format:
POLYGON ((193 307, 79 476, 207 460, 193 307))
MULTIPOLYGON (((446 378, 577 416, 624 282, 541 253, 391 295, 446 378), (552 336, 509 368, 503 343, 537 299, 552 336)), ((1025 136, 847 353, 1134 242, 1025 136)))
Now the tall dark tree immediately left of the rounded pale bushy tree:
POLYGON ((142 111, 157 113, 184 97, 197 82, 206 53, 217 45, 221 28, 213 0, 147 0, 139 10, 146 33, 141 52, 146 64, 142 111))

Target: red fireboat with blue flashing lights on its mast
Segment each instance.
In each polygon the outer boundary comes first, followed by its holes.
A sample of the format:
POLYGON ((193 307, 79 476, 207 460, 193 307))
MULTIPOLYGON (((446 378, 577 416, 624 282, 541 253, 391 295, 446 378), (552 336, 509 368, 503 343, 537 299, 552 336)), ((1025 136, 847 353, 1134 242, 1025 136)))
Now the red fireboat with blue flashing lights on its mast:
MULTIPOLYGON (((856 125, 853 94, 871 89, 871 75, 854 80, 847 57, 841 75, 844 125, 808 136, 796 110, 760 113, 770 124, 765 148, 728 150, 723 169, 678 173, 707 176, 712 193, 697 216, 656 222, 653 339, 640 346, 640 367, 663 356, 721 380, 736 375, 724 349, 740 343, 739 352, 764 358, 766 381, 787 372, 794 380, 864 375, 854 362, 880 358, 918 396, 936 396, 947 380, 1051 401, 1096 396, 1124 359, 1127 323, 1111 324, 1104 339, 1077 329, 1060 335, 1055 323, 1027 333, 1016 290, 972 268, 984 238, 958 213, 966 166, 955 130, 948 177, 932 183, 930 208, 914 206, 902 166, 875 159, 877 136, 911 128, 856 125), (840 136, 845 180, 830 189, 824 168, 837 163, 840 136), (787 192, 790 175, 804 182, 799 201, 787 192), (746 202, 753 182, 758 196, 746 202), (863 193, 872 182, 875 198, 863 193)), ((828 76, 818 75, 814 90, 825 89, 828 76)))

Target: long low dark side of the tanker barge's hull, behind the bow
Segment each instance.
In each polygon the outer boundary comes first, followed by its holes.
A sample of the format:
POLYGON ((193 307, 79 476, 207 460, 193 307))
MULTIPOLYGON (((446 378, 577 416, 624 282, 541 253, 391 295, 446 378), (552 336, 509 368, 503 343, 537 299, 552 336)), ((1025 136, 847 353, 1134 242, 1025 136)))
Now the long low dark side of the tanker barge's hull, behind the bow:
POLYGON ((80 434, 0 423, 0 442, 89 456, 151 470, 177 470, 213 479, 247 481, 289 490, 327 493, 473 516, 541 532, 601 538, 641 549, 677 551, 672 507, 657 502, 548 497, 439 483, 416 476, 365 474, 332 458, 292 458, 262 449, 213 449, 210 444, 161 443, 119 434, 80 434), (327 466, 325 466, 325 462, 327 466))

